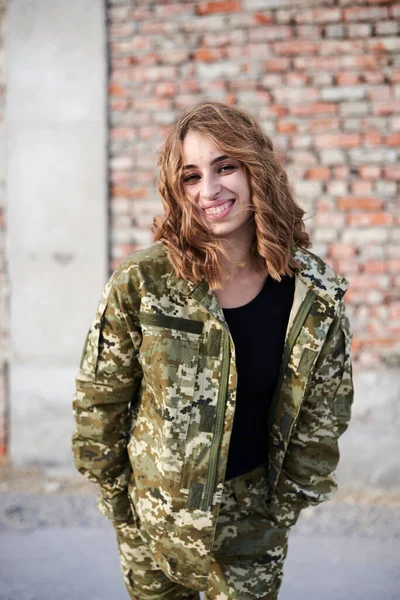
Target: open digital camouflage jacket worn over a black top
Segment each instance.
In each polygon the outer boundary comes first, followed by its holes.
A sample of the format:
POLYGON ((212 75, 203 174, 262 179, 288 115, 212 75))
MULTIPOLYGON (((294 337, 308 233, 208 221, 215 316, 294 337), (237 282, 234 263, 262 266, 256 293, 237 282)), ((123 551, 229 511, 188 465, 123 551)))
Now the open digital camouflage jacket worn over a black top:
MULTIPOLYGON (((266 424, 271 520, 335 490, 352 402, 347 282, 310 252, 300 269, 266 424)), ((205 589, 235 411, 235 348, 207 283, 176 277, 162 244, 108 282, 77 377, 76 466, 100 509, 136 522, 164 572, 205 589)))

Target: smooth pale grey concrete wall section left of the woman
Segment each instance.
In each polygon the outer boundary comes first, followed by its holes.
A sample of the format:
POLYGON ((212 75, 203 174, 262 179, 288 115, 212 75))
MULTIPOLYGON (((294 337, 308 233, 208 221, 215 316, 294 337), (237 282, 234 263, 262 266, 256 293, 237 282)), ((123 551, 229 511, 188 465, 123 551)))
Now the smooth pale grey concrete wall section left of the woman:
POLYGON ((71 464, 71 399, 107 277, 99 0, 11 0, 6 22, 11 458, 71 464))

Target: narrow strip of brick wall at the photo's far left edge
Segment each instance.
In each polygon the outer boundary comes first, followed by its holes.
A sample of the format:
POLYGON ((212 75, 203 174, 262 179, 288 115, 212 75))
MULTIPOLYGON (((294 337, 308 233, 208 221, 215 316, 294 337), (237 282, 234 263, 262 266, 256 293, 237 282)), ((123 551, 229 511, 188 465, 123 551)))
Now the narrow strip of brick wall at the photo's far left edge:
POLYGON ((8 280, 5 260, 5 173, 4 173, 4 21, 5 0, 0 0, 0 462, 7 455, 8 432, 8 280))

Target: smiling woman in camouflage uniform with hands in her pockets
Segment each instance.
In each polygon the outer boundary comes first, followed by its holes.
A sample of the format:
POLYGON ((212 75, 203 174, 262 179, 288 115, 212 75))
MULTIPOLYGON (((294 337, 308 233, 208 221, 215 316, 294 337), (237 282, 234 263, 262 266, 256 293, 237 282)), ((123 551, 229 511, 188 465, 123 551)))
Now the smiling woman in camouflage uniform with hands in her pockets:
POLYGON ((159 167, 157 243, 115 271, 87 337, 76 465, 131 598, 276 599, 289 528, 336 487, 347 283, 306 250, 250 115, 199 104, 159 167))

